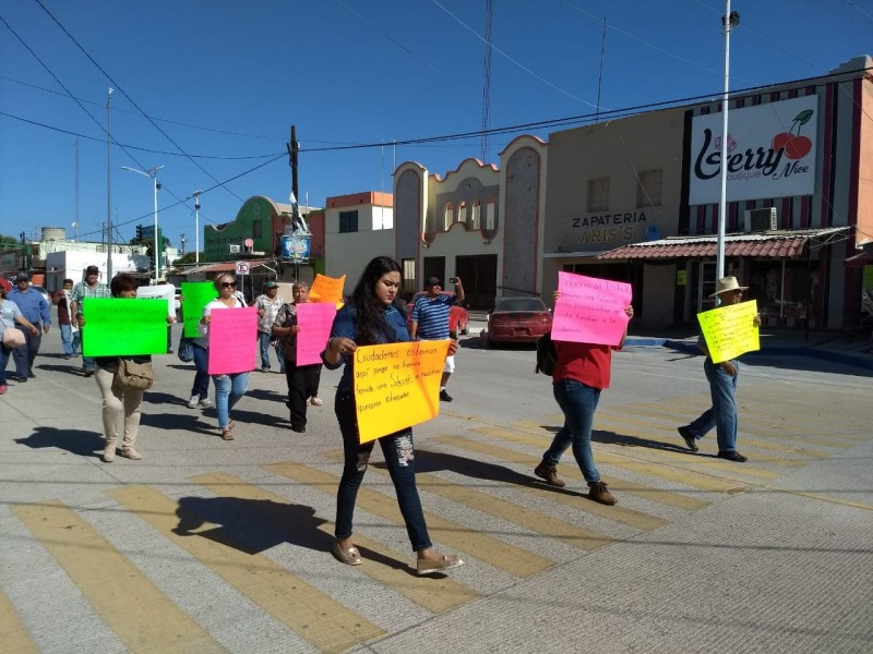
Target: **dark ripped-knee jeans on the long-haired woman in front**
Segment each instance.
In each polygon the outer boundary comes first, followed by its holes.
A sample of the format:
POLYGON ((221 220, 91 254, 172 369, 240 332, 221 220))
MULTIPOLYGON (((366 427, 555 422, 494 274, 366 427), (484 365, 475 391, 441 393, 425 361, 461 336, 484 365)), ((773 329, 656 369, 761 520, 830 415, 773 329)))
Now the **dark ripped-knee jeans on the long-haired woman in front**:
MULTIPOLYGON (((339 488, 336 492, 336 530, 337 538, 351 536, 351 519, 355 514, 355 500, 358 498, 358 488, 367 472, 370 452, 373 451, 375 441, 360 444, 358 438, 358 421, 355 411, 355 396, 348 391, 337 392, 334 402, 336 420, 343 434, 343 451, 345 464, 339 488)), ((433 543, 428 535, 428 525, 424 523, 424 512, 421 510, 421 499, 418 497, 416 486, 416 459, 412 443, 412 429, 402 429, 379 438, 385 464, 394 482, 397 494, 397 504, 400 507, 406 533, 415 552, 432 547, 433 543)))

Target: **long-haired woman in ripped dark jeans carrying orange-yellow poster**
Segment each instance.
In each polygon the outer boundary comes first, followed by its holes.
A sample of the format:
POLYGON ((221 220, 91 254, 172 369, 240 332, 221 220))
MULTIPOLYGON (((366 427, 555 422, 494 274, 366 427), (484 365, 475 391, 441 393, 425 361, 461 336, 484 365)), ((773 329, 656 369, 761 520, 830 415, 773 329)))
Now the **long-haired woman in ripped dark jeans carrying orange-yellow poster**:
MULTIPOLYGON (((343 434, 345 465, 336 494, 336 543, 333 554, 342 562, 359 566, 361 555, 351 542, 351 519, 358 488, 363 481, 373 443, 360 443, 354 386, 354 354, 358 346, 396 343, 411 340, 406 316, 394 304, 400 288, 400 266, 390 257, 379 256, 367 264, 351 295, 351 302, 336 314, 331 339, 322 353, 328 370, 346 364, 336 389, 334 410, 343 434)), ((457 342, 452 341, 449 353, 454 354, 457 342)), ((457 555, 443 555, 433 548, 421 510, 416 486, 412 429, 407 427, 378 438, 385 463, 394 482, 406 532, 416 550, 418 574, 443 572, 464 565, 457 555)))

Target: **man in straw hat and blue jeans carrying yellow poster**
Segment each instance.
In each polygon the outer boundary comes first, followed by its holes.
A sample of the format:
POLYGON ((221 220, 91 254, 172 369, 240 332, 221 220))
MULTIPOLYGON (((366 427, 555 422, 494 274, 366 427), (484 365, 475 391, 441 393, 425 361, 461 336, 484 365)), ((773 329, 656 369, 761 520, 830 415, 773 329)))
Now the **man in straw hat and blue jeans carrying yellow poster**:
MULTIPOLYGON (((741 287, 736 277, 722 277, 716 284, 716 292, 709 296, 718 298, 720 306, 730 306, 742 302, 743 291, 748 288, 741 287)), ((761 325, 758 316, 754 317, 754 322, 755 325, 761 325)), ((678 427, 679 435, 687 448, 696 452, 697 440, 715 427, 719 459, 745 463, 749 459, 737 451, 737 380, 740 377, 740 362, 734 359, 713 363, 703 336, 697 339, 697 347, 706 354, 703 370, 709 382, 713 405, 691 424, 678 427)))

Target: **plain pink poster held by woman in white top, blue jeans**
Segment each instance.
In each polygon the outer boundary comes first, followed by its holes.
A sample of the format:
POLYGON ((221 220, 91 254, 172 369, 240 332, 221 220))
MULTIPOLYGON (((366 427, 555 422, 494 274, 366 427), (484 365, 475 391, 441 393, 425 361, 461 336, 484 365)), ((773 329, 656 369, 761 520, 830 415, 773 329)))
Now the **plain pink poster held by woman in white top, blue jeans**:
POLYGON ((258 310, 254 306, 219 308, 211 315, 208 373, 230 375, 253 371, 258 349, 258 310))

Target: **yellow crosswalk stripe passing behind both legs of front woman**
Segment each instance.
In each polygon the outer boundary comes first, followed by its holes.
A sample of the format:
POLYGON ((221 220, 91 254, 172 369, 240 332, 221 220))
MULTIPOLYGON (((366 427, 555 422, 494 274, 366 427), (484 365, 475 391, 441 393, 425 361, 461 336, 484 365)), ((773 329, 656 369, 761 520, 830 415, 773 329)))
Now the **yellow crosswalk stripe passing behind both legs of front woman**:
MULTIPOLYGON (((321 486, 325 493, 335 493, 339 483, 339 479, 333 474, 299 463, 271 463, 265 468, 301 484, 312 487, 321 486)), ((385 520, 403 524, 397 500, 394 497, 370 488, 360 488, 357 507, 385 520)), ((538 574, 554 565, 553 561, 533 552, 498 541, 466 524, 446 520, 429 511, 424 511, 424 519, 428 523, 428 531, 438 542, 445 543, 453 549, 465 552, 517 577, 538 574)))

